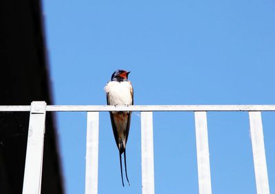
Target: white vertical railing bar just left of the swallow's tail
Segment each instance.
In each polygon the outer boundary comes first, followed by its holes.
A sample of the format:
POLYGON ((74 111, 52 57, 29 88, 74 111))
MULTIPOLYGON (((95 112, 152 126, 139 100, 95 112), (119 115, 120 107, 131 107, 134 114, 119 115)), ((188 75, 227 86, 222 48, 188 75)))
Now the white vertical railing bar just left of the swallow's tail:
POLYGON ((98 112, 87 112, 85 194, 98 193, 98 112))

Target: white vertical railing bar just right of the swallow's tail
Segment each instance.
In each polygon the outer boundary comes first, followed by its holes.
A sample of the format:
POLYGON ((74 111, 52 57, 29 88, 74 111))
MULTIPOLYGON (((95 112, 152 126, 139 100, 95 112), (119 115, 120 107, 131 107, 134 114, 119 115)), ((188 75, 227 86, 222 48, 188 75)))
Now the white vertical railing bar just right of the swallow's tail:
POLYGON ((141 112, 142 125, 142 194, 155 193, 153 113, 141 112))

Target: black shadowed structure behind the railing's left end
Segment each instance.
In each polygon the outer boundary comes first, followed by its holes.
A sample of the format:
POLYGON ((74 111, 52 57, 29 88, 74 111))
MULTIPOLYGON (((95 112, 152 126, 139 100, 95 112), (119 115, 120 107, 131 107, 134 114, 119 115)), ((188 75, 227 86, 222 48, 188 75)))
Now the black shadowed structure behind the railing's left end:
MULTIPOLYGON (((0 105, 53 104, 41 1, 0 3, 0 105)), ((29 112, 0 112, 0 193, 22 193, 29 112)), ((64 193, 55 115, 47 113, 41 193, 64 193)))

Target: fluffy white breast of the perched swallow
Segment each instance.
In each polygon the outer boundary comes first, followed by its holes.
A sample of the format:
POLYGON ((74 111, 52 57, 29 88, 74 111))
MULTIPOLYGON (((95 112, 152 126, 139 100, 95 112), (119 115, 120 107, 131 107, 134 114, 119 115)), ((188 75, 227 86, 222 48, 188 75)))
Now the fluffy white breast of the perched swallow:
POLYGON ((132 86, 129 82, 108 82, 104 90, 109 95, 110 105, 132 104, 132 86))

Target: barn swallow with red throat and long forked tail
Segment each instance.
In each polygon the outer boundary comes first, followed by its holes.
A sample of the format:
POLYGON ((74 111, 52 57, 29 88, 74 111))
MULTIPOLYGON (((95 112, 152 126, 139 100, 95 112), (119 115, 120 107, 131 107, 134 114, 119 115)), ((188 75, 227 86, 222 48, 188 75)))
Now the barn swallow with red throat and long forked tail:
MULTIPOLYGON (((108 105, 133 105, 133 87, 131 82, 128 80, 128 75, 130 71, 117 70, 111 75, 111 81, 107 83, 104 87, 105 93, 107 95, 108 105)), ((115 136, 115 143, 118 146, 120 154, 120 173, 123 182, 122 175, 122 161, 121 155, 124 154, 124 167, 127 182, 130 186, 127 169, 126 169, 126 143, 130 130, 131 123, 131 111, 111 111, 111 125, 113 128, 113 136, 115 136)))

